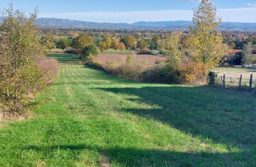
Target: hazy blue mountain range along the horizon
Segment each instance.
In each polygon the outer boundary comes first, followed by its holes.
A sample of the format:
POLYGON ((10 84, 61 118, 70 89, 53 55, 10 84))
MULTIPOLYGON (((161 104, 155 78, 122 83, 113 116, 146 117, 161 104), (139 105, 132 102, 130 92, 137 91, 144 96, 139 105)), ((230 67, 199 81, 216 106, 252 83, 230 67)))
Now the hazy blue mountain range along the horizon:
MULTIPOLYGON (((0 20, 2 20, 0 18, 0 20)), ((108 22, 87 22, 69 19, 40 18, 36 21, 41 28, 100 28, 100 29, 145 29, 145 30, 188 30, 192 25, 191 21, 158 21, 158 22, 134 22, 129 23, 108 23, 108 22)), ((256 22, 223 22, 219 30, 229 31, 255 31, 256 22)))

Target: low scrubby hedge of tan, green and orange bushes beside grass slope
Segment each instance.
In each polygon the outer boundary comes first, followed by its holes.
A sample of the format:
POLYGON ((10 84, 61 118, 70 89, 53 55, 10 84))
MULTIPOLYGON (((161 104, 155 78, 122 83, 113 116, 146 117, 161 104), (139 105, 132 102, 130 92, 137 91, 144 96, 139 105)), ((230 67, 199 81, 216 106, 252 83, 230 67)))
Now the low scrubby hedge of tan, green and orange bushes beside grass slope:
POLYGON ((206 81, 205 65, 193 62, 171 63, 165 60, 149 66, 147 61, 139 62, 131 55, 118 63, 94 58, 93 64, 107 73, 139 82, 202 85, 206 81))

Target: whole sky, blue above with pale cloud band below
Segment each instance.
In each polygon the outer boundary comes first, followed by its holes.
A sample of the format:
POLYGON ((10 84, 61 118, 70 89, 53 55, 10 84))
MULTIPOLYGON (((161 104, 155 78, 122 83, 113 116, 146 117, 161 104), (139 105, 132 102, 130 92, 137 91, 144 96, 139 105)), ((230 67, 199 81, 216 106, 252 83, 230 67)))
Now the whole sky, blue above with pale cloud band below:
MULTIPOLYGON (((29 13, 39 7, 39 17, 96 22, 189 21, 200 0, 0 0, 0 8, 29 13)), ((256 0, 214 0, 223 21, 256 22, 256 0)))

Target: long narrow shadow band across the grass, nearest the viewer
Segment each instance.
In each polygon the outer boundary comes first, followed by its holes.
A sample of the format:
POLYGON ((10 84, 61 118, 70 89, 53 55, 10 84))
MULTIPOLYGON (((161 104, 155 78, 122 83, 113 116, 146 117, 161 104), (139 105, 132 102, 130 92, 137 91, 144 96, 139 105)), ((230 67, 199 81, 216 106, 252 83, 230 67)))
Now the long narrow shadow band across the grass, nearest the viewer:
MULTIPOLYGON (((35 150, 43 152, 45 155, 66 150, 77 152, 91 150, 106 156, 110 164, 122 166, 235 166, 242 165, 241 161, 236 161, 231 157, 238 157, 241 153, 208 153, 208 152, 170 152, 165 150, 143 150, 138 148, 101 148, 98 146, 84 145, 56 145, 56 146, 27 146, 23 150, 35 150), (228 158, 228 160, 227 160, 228 158)), ((65 159, 63 159, 65 161, 65 159)), ((98 162, 99 163, 99 162, 98 162)), ((248 164, 253 162, 248 162, 248 164)))

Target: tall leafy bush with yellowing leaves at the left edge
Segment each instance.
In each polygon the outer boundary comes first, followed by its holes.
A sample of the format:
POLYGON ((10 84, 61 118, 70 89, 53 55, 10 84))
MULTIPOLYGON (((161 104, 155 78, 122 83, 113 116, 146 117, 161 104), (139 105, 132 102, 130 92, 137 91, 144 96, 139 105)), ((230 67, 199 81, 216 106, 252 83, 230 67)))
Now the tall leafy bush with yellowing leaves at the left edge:
POLYGON ((11 6, 6 15, 0 25, 0 112, 21 114, 33 96, 48 84, 48 70, 39 66, 46 61, 35 62, 44 57, 45 49, 34 25, 37 12, 26 18, 11 6))

